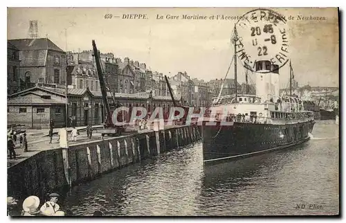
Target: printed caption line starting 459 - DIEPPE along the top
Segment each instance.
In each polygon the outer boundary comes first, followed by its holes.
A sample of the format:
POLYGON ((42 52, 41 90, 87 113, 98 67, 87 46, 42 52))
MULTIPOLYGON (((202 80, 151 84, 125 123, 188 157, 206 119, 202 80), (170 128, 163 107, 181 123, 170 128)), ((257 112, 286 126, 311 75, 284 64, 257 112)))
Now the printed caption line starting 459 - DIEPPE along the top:
MULTIPOLYGON (((318 17, 318 16, 312 16, 312 15, 289 15, 287 17, 283 16, 286 20, 327 20, 326 17, 318 17)), ((106 14, 104 15, 104 19, 151 19, 147 14, 122 14, 122 15, 112 15, 112 14, 106 14)), ((251 19, 251 17, 248 16, 241 16, 241 15, 161 15, 156 14, 154 15, 154 19, 165 19, 165 20, 248 20, 251 19)))

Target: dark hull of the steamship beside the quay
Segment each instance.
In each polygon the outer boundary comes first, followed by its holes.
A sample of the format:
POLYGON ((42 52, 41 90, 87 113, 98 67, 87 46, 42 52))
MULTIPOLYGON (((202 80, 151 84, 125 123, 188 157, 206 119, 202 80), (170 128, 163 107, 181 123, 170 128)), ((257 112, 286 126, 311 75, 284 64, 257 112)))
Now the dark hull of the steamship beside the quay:
POLYGON ((233 123, 201 127, 203 162, 241 159, 264 152, 289 148, 309 140, 315 121, 288 125, 233 123))

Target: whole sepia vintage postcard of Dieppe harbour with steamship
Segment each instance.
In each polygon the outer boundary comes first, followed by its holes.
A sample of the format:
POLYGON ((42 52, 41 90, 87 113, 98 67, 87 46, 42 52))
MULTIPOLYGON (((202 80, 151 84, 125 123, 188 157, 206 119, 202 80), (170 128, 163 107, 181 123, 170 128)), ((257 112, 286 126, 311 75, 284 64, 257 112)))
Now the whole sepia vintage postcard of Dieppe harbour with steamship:
POLYGON ((8 8, 8 215, 339 215, 338 21, 8 8))

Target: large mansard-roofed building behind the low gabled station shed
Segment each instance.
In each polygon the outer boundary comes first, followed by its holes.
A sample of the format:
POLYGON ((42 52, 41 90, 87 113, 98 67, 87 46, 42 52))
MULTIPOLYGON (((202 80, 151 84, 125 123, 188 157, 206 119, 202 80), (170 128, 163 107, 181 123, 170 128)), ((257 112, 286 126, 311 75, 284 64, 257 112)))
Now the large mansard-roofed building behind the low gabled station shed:
POLYGON ((19 49, 21 89, 35 84, 64 87, 66 53, 48 38, 9 39, 19 49))

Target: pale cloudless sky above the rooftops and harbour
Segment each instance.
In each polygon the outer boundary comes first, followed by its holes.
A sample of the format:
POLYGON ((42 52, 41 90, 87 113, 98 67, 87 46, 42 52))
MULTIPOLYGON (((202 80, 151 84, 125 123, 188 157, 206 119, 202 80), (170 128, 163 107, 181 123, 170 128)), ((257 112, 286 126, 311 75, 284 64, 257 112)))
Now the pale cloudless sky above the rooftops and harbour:
MULTIPOLYGON (((289 58, 300 86, 338 87, 337 9, 271 9, 286 19, 295 17, 287 20, 286 27, 289 58), (298 15, 325 20, 297 20, 298 15)), ((237 19, 181 19, 182 15, 235 17, 250 10, 253 8, 8 8, 8 39, 28 38, 29 21, 37 20, 39 37, 48 37, 64 51, 91 50, 95 39, 102 53, 145 62, 164 75, 186 71, 192 78, 208 81, 226 75, 234 53, 230 37, 237 19), (106 14, 113 18, 105 19, 106 14), (122 19, 129 14, 147 19, 122 19), (157 19, 160 16, 163 19, 157 19)), ((244 82, 245 69, 237 68, 237 78, 244 82)), ((251 82, 254 75, 251 73, 251 82)), ((227 78, 234 78, 234 68, 227 78)), ((280 87, 287 87, 288 82, 289 66, 285 65, 280 69, 280 87)))

